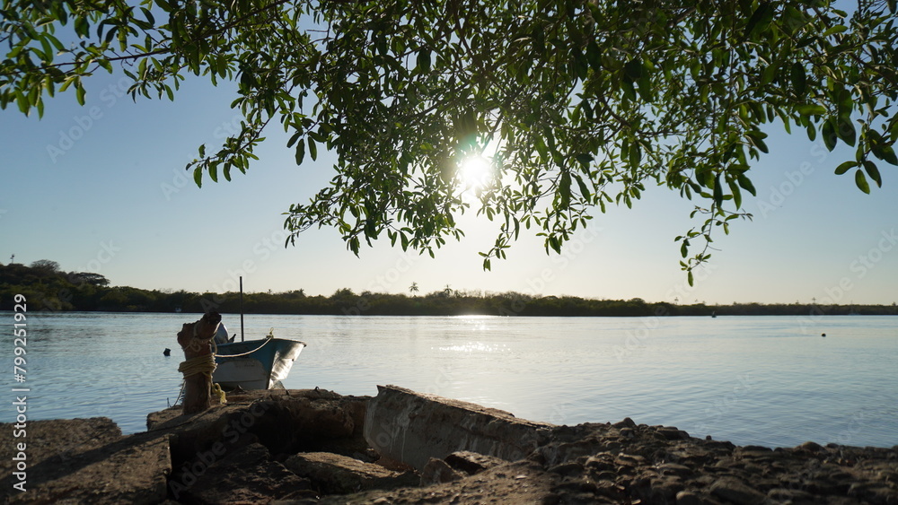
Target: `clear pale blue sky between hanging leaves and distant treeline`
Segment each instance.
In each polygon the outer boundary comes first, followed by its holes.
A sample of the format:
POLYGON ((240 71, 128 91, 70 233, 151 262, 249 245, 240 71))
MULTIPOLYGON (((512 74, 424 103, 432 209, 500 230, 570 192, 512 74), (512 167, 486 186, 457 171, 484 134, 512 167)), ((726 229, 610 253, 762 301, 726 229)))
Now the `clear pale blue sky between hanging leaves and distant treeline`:
POLYGON ((113 285, 193 292, 234 290, 242 275, 247 292, 408 292, 418 283, 421 292, 449 284, 681 303, 898 301, 898 168, 880 163, 884 187, 864 195, 851 173, 833 174, 852 153, 827 152, 803 132, 768 139, 770 154, 750 172, 758 196, 744 199, 754 220, 719 234, 721 250, 690 287, 674 237, 699 223, 689 221, 691 203, 663 187, 647 188, 633 209, 596 210, 560 257, 522 234, 491 272, 477 252, 489 248, 495 225, 467 215, 467 237, 436 259, 387 240, 355 257, 331 230, 306 231, 284 248, 282 213, 327 184, 332 158, 296 167, 274 126, 245 175, 198 188, 184 166, 199 144, 215 148, 239 123, 233 90, 188 80, 174 102, 135 103, 119 76, 87 85, 84 107, 66 92, 48 100, 40 120, 0 111, 4 264, 13 254, 25 264, 46 258, 113 285))

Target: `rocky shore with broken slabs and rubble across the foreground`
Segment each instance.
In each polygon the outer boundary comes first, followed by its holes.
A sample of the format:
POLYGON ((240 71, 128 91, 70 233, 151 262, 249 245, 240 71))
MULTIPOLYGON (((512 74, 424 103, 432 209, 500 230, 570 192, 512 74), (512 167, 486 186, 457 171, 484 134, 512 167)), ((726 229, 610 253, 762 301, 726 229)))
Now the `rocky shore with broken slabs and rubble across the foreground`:
MULTIPOLYGON (((555 426, 401 387, 229 395, 150 414, 0 428, 8 503, 898 504, 898 447, 737 447, 624 419, 555 426), (27 442, 26 451, 16 444, 27 442), (21 492, 13 472, 24 466, 21 492), (18 457, 18 460, 17 460, 18 457)), ((21 476, 21 475, 20 475, 21 476)))

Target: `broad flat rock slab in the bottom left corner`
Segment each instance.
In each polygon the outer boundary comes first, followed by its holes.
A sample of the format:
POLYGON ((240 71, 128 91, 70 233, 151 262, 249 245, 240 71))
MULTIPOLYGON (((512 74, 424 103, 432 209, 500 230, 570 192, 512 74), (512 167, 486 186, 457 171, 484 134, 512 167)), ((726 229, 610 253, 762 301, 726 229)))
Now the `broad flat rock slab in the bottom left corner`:
POLYGON ((122 437, 110 419, 28 422, 27 436, 13 438, 13 425, 0 424, 4 454, 0 498, 10 503, 158 503, 172 471, 168 435, 122 437), (25 443, 25 490, 12 474, 18 443, 25 443))

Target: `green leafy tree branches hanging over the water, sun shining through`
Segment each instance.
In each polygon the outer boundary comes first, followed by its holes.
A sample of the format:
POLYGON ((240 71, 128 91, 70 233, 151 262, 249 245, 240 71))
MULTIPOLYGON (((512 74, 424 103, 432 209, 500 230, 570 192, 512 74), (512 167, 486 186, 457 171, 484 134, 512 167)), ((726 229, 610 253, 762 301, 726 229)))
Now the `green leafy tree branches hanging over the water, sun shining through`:
POLYGON ((272 121, 297 163, 336 155, 331 184, 290 206, 292 239, 331 226, 356 253, 385 234, 433 255, 476 210, 499 227, 489 268, 522 228, 559 251, 596 210, 657 184, 696 201, 699 224, 678 237, 691 270, 712 231, 748 216, 765 130, 850 145, 836 172, 864 192, 898 164, 895 1, 840 6, 3 0, 0 106, 40 115, 66 89, 83 103, 84 78, 114 65, 135 96, 172 99, 189 74, 229 80, 242 130, 199 148, 198 184, 248 170, 272 121), (492 171, 466 187, 458 168, 478 155, 492 171))

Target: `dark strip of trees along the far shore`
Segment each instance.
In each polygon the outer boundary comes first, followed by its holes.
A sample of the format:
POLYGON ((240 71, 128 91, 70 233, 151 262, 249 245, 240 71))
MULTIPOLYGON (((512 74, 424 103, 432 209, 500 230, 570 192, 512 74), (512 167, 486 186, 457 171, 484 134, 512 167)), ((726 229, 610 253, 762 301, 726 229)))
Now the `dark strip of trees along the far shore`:
MULTIPOLYGON (((417 291, 417 284, 414 285, 417 291)), ((25 266, 0 264, 0 310, 13 309, 13 296, 24 295, 29 311, 103 312, 240 312, 236 292, 186 292, 144 290, 110 286, 101 274, 63 272, 54 261, 40 260, 25 266)), ((597 300, 576 296, 542 296, 522 292, 472 292, 443 290, 425 294, 356 293, 342 288, 331 294, 307 295, 304 290, 289 292, 244 292, 246 314, 348 315, 348 316, 894 316, 892 305, 839 303, 844 292, 811 303, 733 303, 708 305, 688 302, 597 300), (833 300, 832 299, 837 299, 833 300)), ((686 296, 685 294, 683 295, 686 296)))

